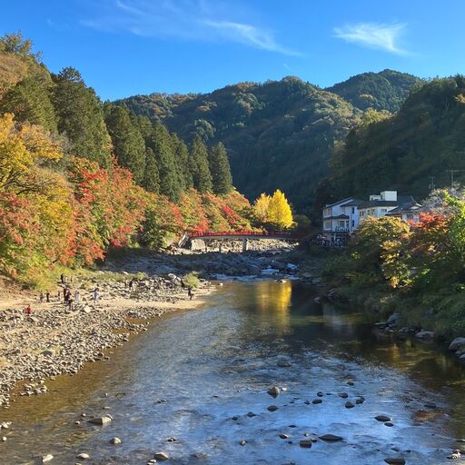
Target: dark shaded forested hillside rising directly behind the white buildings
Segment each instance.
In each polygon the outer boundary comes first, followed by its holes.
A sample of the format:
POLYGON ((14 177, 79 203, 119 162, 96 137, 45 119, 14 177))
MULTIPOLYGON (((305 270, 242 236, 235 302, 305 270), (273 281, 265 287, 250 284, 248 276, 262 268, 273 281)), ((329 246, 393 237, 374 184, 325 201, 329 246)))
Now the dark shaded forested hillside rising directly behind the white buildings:
MULTIPOLYGON (((465 180, 465 77, 434 79, 411 92, 392 116, 371 113, 331 161, 319 197, 397 189, 421 199, 436 186, 465 180)), ((331 200, 331 199, 330 199, 331 200)))

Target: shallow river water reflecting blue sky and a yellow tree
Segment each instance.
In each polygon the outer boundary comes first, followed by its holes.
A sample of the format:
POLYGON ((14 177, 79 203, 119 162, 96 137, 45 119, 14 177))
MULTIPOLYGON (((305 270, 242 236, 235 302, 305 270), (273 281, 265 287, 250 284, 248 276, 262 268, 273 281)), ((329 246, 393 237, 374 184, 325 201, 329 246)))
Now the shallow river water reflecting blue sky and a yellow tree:
POLYGON ((465 438, 460 363, 434 344, 376 332, 356 309, 316 305, 315 295, 295 282, 226 283, 203 308, 153 323, 109 361, 0 411, 13 421, 0 464, 47 453, 52 464, 145 464, 159 450, 173 464, 449 463, 465 438), (274 399, 272 385, 286 391, 274 399), (359 396, 364 403, 345 408, 359 396), (114 420, 91 426, 83 412, 114 420), (302 449, 305 433, 343 440, 302 449), (115 436, 122 444, 109 443, 115 436), (90 460, 76 459, 81 452, 90 460))

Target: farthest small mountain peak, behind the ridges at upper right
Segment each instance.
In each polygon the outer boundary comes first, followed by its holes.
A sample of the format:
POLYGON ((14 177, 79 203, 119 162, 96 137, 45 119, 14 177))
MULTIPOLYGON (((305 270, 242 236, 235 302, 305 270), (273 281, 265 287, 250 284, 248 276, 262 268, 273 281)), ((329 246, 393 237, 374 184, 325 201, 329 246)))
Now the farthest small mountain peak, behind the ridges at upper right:
POLYGON ((326 90, 340 95, 361 110, 374 108, 394 113, 415 85, 423 81, 411 74, 385 69, 381 73, 363 73, 326 90))

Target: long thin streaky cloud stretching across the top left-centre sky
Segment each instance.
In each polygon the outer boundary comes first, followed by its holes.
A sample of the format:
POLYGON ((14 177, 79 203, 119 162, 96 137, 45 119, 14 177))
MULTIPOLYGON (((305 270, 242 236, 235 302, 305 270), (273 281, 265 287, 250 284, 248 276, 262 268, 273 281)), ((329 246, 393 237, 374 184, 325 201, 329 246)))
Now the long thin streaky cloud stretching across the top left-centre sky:
POLYGON ((233 5, 213 0, 110 0, 81 24, 106 32, 227 41, 279 54, 299 54, 279 44, 272 31, 243 20, 244 15, 233 5))

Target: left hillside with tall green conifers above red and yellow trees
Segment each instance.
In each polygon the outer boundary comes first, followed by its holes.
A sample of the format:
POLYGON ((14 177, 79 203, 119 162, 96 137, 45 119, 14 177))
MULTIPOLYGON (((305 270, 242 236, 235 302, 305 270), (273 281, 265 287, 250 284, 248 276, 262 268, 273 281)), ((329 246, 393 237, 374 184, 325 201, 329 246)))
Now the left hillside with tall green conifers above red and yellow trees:
POLYGON ((52 74, 30 41, 0 37, 0 274, 37 284, 110 246, 158 249, 249 218, 222 143, 103 104, 74 68, 52 74))

